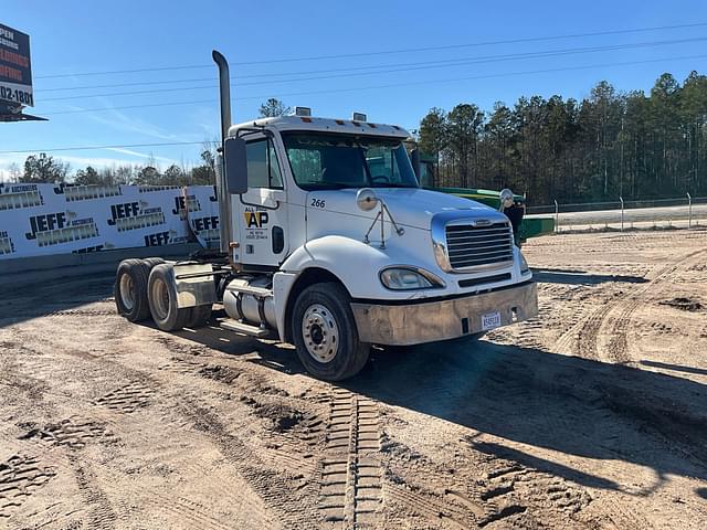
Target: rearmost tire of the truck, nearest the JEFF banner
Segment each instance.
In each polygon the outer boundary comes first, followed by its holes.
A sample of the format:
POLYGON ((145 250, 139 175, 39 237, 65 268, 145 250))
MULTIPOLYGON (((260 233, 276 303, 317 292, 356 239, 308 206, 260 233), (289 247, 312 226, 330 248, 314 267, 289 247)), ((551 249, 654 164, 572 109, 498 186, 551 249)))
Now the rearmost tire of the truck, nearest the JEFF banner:
POLYGON ((118 315, 130 322, 147 320, 150 308, 147 299, 147 284, 150 269, 141 259, 124 259, 115 276, 115 305, 118 315))

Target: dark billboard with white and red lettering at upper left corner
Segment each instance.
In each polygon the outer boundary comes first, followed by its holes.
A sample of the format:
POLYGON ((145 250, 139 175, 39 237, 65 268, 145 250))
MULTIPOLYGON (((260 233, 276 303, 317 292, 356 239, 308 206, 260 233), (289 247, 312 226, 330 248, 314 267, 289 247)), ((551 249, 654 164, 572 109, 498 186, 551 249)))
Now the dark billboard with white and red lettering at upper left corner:
POLYGON ((30 35, 0 24, 0 104, 33 107, 30 35))

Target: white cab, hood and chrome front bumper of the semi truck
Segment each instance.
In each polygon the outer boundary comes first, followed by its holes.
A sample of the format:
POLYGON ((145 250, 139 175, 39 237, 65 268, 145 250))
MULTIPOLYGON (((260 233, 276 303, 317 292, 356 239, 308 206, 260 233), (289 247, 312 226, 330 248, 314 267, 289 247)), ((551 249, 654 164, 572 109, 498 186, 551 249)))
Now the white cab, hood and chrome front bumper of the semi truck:
MULTIPOLYGON (((394 125, 308 115, 229 129, 229 139, 244 142, 247 179, 247 191, 230 194, 229 257, 243 273, 268 278, 278 336, 307 350, 302 357, 315 373, 335 354, 317 352, 345 327, 300 321, 317 308, 325 322, 334 312, 326 304, 296 310, 294 300, 317 283, 340 287, 351 332, 366 344, 477 337, 537 312, 507 216, 422 189, 405 151, 409 136, 394 125)), ((243 320, 239 296, 226 288, 225 307, 243 320)))

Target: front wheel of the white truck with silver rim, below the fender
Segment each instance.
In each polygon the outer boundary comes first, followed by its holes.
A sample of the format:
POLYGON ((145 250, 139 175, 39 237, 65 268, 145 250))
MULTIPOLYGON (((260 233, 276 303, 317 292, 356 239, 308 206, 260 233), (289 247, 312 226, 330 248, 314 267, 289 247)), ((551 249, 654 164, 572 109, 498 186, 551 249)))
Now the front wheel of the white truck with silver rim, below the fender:
POLYGON ((350 297, 339 284, 315 284, 299 294, 292 335, 297 357, 317 379, 352 378, 368 361, 370 344, 358 340, 350 297))

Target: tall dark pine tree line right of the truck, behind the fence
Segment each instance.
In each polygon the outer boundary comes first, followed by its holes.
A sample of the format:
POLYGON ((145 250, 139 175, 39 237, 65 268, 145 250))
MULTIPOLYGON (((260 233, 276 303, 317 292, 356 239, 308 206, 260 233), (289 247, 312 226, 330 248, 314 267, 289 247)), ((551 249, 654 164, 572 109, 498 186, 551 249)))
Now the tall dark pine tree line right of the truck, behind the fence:
POLYGON ((577 100, 432 108, 418 132, 435 183, 511 188, 535 204, 707 194, 707 76, 663 74, 648 94, 602 81, 577 100))

